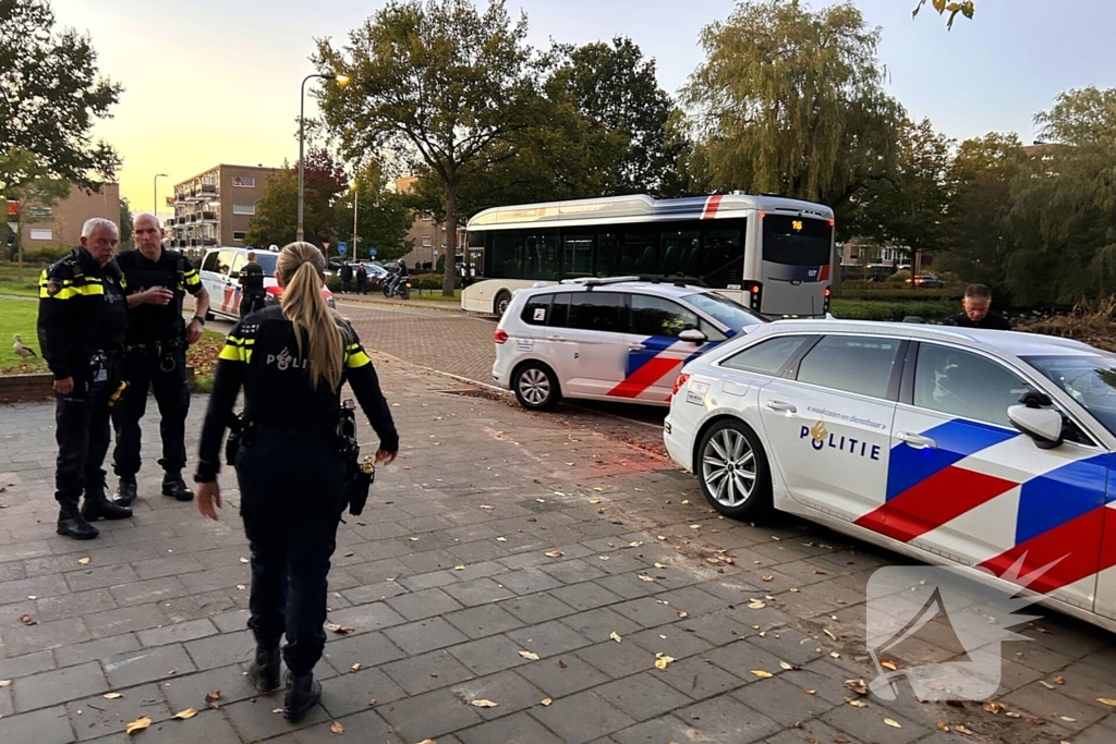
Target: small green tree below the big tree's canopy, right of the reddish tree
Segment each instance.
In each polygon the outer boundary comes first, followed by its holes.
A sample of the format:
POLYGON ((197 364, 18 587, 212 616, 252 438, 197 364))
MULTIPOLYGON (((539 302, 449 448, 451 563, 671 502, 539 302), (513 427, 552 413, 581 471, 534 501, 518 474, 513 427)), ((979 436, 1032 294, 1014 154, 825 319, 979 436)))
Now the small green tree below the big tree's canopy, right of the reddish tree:
POLYGON ((378 163, 360 168, 353 178, 353 187, 334 204, 337 214, 339 240, 349 240, 349 258, 366 259, 368 249, 376 249, 376 258, 391 261, 406 255, 413 245, 407 232, 414 221, 403 197, 388 190, 387 178, 378 163), (356 235, 353 231, 353 209, 356 207, 356 235))

